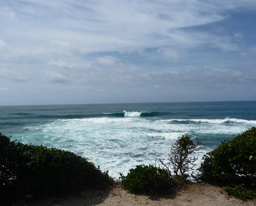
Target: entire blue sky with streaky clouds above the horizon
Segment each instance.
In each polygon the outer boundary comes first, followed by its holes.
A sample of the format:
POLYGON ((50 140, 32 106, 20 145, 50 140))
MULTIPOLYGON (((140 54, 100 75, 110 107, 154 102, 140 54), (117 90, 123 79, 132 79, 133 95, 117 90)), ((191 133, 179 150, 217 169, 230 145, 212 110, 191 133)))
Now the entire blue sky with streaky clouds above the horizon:
POLYGON ((255 0, 3 0, 0 26, 0 105, 256 100, 255 0))

